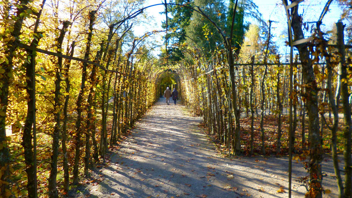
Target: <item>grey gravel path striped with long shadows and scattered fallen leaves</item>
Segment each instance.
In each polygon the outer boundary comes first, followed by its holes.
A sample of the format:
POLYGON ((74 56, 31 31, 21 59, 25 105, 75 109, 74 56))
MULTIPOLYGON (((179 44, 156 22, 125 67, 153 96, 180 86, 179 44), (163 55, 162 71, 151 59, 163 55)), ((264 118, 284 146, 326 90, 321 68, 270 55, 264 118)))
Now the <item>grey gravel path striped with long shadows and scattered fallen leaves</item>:
MULTIPOLYGON (((171 103, 171 102, 170 102, 171 103)), ((90 183, 76 197, 90 198, 287 198, 287 157, 222 158, 181 104, 152 107, 137 123, 132 136, 111 154, 108 166, 95 172, 101 182, 90 183), (278 193, 282 186, 282 192, 278 193)), ((304 197, 295 180, 305 176, 301 163, 293 163, 292 197, 304 197)), ((335 198, 336 180, 331 160, 323 169, 327 189, 335 198), (325 168, 325 169, 324 169, 325 168), (333 186, 328 186, 333 185, 333 186)))

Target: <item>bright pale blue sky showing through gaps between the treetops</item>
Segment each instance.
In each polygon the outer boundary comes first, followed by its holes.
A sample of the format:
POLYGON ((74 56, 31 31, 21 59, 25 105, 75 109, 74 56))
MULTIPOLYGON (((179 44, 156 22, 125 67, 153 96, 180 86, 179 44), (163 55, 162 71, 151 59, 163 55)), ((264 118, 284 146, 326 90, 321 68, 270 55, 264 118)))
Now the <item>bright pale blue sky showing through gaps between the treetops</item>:
MULTIPOLYGON (((163 0, 146 0, 145 6, 162 3, 163 0)), ((280 53, 286 53, 287 49, 284 46, 284 41, 287 34, 287 17, 285 9, 281 4, 282 0, 252 0, 257 6, 258 11, 262 14, 264 21, 272 20, 277 21, 277 23, 272 24, 272 33, 274 34, 273 41, 277 42, 280 46, 280 53), (283 35, 283 36, 281 36, 283 35), (281 37, 280 37, 281 36, 281 37)), ((303 20, 305 22, 312 22, 318 20, 326 0, 304 0, 300 3, 300 13, 302 13, 303 20)), ((159 12, 164 10, 164 6, 153 6, 146 10, 148 15, 153 18, 148 20, 147 24, 143 24, 135 28, 135 33, 137 35, 142 35, 145 32, 150 32, 152 30, 161 29, 161 21, 165 20, 165 15, 160 15, 159 12)), ((330 10, 326 14, 323 20, 322 30, 331 30, 332 26, 340 19, 341 9, 339 8, 336 1, 330 5, 330 10)), ((257 23, 253 19, 247 19, 251 23, 257 23)), ((309 34, 309 33, 307 33, 309 34)), ((306 37, 310 35, 305 35, 306 37)), ((160 44, 161 36, 159 36, 160 44)))

